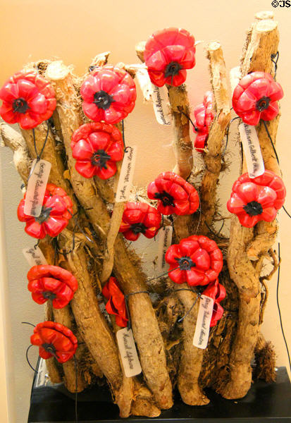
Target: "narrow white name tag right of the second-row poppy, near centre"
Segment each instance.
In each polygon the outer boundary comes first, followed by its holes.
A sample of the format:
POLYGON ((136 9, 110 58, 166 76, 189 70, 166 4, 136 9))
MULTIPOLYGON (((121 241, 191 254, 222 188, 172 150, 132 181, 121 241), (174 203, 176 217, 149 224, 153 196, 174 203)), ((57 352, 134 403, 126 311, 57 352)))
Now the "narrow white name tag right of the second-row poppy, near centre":
POLYGON ((116 202, 128 201, 132 188, 135 161, 137 159, 137 147, 126 147, 123 157, 123 164, 120 170, 118 187, 116 190, 116 202))

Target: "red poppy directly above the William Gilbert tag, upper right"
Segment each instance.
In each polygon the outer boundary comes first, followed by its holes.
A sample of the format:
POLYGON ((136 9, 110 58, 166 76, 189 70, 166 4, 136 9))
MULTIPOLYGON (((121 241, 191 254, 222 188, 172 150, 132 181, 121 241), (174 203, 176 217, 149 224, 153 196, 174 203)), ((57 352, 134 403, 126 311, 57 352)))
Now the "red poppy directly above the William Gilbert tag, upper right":
POLYGON ((269 73, 252 72, 244 76, 233 92, 233 110, 248 125, 260 119, 271 121, 279 113, 283 90, 269 73))

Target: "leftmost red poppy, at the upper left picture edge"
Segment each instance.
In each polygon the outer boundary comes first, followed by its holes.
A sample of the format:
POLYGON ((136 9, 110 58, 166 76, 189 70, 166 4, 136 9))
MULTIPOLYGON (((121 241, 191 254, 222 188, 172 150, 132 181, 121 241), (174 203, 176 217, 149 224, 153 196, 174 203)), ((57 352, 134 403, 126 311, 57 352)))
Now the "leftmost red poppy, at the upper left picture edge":
POLYGON ((19 123, 23 129, 47 121, 56 109, 53 87, 35 71, 20 71, 11 76, 0 90, 0 99, 4 121, 19 123))

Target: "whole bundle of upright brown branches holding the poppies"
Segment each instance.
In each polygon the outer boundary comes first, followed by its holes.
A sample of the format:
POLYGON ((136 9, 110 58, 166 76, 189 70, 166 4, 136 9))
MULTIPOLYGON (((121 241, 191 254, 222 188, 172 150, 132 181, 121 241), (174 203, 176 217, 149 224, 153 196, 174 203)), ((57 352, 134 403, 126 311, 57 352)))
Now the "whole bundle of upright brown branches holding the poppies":
MULTIPOLYGON (((144 43, 137 45, 137 55, 142 60, 143 49, 144 43)), ((259 13, 247 34, 237 70, 240 77, 251 71, 273 74, 271 57, 277 51, 277 23, 271 13, 259 13)), ((203 391, 206 386, 216 389, 224 398, 242 398, 252 383, 254 353, 259 357, 256 374, 266 380, 274 379, 274 353, 259 330, 268 293, 267 277, 261 277, 264 258, 271 256, 273 266, 278 266, 272 248, 277 223, 263 221, 254 228, 244 228, 234 216, 229 238, 213 230, 213 223, 221 219, 216 207, 216 188, 225 170, 223 140, 230 124, 230 95, 221 45, 209 43, 206 54, 216 117, 202 155, 201 184, 198 187, 195 183, 200 209, 173 221, 174 243, 193 234, 206 235, 224 253, 220 283, 227 292, 225 312, 211 329, 206 350, 192 345, 199 308, 198 302, 192 307, 196 295, 187 290, 186 284, 177 286, 166 277, 159 279, 159 283, 147 281, 140 257, 118 233, 125 206, 123 202, 114 202, 120 167, 110 182, 84 178, 75 170, 70 142, 74 131, 88 121, 80 98, 80 85, 88 74, 77 78, 61 61, 39 61, 25 66, 25 70, 37 70, 54 87, 57 104, 48 135, 47 126, 42 123, 35 129, 35 139, 40 149, 47 137, 42 158, 51 163, 49 182, 66 190, 73 201, 73 213, 79 212, 77 228, 69 223, 58 235, 57 250, 48 236, 39 243, 49 264, 69 270, 78 280, 78 290, 69 305, 54 309, 49 301, 46 309, 47 320, 67 326, 78 338, 75 355, 78 385, 72 360, 59 364, 55 357, 49 358, 49 375, 53 382, 63 381, 71 392, 105 379, 121 417, 158 416, 161 410, 172 407, 176 385, 182 400, 190 405, 209 403, 203 391), (128 296, 128 312, 142 367, 138 376, 125 376, 116 342, 119 328, 101 311, 104 303, 101 290, 111 275, 128 296), (154 300, 149 293, 156 293, 154 300)), ((108 58, 108 53, 100 54, 91 66, 103 66, 108 58)), ((138 66, 119 66, 135 77, 138 66)), ((175 173, 194 185, 197 168, 193 165, 186 87, 167 85, 167 88, 174 128, 175 173)), ((277 127, 278 117, 268 123, 273 142, 277 127)), ((265 168, 280 175, 271 141, 261 123, 256 132, 265 168)), ((32 130, 18 132, 3 123, 1 136, 13 150, 14 164, 26 186, 31 161, 37 157, 32 130)), ((144 201, 140 191, 132 195, 144 201)))

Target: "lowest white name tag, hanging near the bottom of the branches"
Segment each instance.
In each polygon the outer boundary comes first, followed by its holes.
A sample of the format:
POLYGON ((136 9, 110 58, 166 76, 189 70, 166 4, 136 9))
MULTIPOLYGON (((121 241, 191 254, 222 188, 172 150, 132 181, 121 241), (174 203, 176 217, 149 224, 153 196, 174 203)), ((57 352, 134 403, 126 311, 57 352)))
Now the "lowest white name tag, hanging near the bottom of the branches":
POLYGON ((142 372, 142 367, 138 359, 132 330, 130 329, 128 331, 128 328, 120 329, 120 331, 116 333, 116 338, 125 376, 131 377, 140 374, 142 372))

